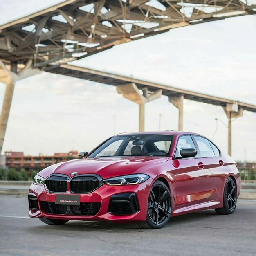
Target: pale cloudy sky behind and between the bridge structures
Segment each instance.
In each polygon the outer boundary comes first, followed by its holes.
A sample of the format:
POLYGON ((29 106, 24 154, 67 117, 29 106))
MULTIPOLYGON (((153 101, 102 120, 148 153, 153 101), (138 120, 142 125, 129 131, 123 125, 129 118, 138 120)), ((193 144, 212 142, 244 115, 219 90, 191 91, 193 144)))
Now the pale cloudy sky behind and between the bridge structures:
MULTIPOLYGON (((0 24, 56 2, 1 0, 0 24)), ((255 16, 207 22, 118 45, 72 64, 256 104, 255 29, 255 16)), ((4 90, 0 84, 0 106, 4 90)), ((114 133, 137 131, 138 108, 114 86, 42 72, 16 83, 3 151, 90 151, 114 133)), ((159 130, 160 114, 161 130, 177 130, 178 110, 164 96, 146 104, 145 130, 159 130)), ((227 152, 222 107, 184 100, 184 130, 212 139, 227 152)), ((255 134, 256 113, 244 111, 232 121, 234 159, 256 161, 255 134)))

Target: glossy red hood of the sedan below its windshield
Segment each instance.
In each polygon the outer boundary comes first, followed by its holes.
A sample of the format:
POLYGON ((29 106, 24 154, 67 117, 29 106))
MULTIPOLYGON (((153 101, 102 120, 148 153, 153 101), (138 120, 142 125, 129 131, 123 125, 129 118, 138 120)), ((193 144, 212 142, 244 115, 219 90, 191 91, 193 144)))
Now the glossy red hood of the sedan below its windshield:
POLYGON ((38 175, 46 178, 52 173, 58 173, 73 177, 71 173, 76 171, 78 175, 97 174, 106 179, 133 173, 146 174, 148 168, 167 160, 168 157, 93 157, 54 164, 40 171, 38 175))

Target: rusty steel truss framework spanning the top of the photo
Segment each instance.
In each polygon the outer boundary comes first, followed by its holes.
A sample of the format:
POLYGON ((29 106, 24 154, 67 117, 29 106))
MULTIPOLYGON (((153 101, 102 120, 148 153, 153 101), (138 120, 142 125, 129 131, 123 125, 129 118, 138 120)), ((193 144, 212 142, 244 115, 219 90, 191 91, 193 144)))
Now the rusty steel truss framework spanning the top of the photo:
MULTIPOLYGON (((256 13, 256 5, 238 0, 191 0, 191 15, 184 12, 186 1, 166 0, 158 4, 162 8, 148 0, 66 0, 0 25, 0 58, 18 64, 33 59, 34 67, 39 64, 44 69, 49 63, 56 64, 56 58, 60 58, 58 65, 67 63, 67 54, 88 52, 83 55, 85 58, 89 53, 173 28, 256 13), (88 4, 93 7, 86 9, 88 4)), ((76 59, 76 54, 72 57, 76 59)))

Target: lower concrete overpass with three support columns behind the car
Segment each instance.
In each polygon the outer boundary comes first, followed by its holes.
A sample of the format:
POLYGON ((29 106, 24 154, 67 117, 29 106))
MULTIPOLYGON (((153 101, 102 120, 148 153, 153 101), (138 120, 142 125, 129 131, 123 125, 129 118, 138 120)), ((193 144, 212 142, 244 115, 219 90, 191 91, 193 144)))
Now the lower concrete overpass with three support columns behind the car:
POLYGON ((80 79, 114 85, 117 92, 124 98, 133 101, 139 105, 139 131, 144 131, 145 104, 161 95, 167 96, 169 101, 179 110, 178 130, 183 130, 183 100, 189 99, 202 103, 221 106, 228 118, 228 153, 232 151, 231 120, 232 118, 242 117, 243 111, 256 113, 256 105, 211 96, 200 92, 184 90, 169 85, 143 81, 129 76, 122 76, 100 70, 93 70, 86 67, 74 65, 52 66, 46 69, 47 72, 72 76, 80 79), (142 94, 139 90, 142 90, 142 94))

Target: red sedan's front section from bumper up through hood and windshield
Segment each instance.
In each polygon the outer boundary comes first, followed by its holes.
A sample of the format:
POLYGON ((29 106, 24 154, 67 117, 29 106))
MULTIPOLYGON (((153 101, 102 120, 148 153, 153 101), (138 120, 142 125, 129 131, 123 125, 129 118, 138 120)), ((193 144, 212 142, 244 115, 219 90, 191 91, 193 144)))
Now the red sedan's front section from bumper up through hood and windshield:
POLYGON ((164 171, 171 139, 168 134, 114 136, 89 155, 79 153, 83 159, 43 169, 29 189, 29 216, 47 224, 144 222, 150 189, 164 171))

